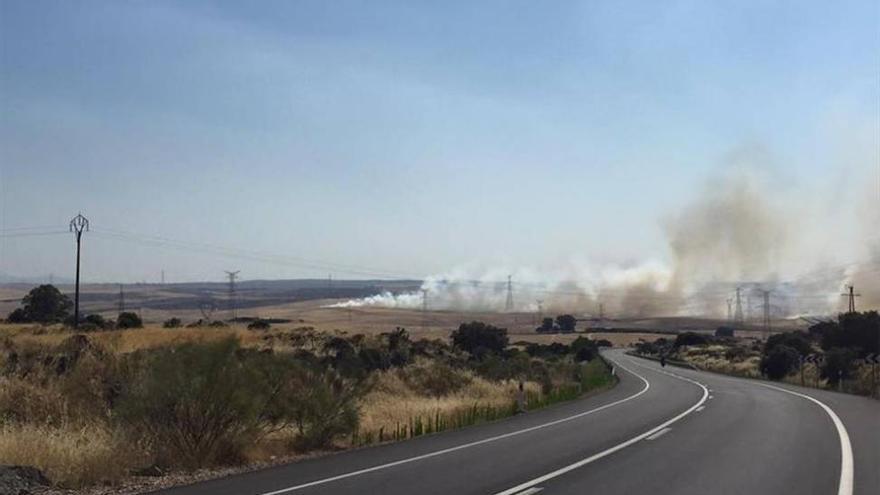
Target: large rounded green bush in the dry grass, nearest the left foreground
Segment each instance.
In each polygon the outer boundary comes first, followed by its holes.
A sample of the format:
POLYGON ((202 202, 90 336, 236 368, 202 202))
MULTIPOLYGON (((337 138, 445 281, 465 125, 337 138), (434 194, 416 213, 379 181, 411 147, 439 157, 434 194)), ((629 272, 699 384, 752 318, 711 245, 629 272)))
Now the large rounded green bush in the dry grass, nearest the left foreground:
POLYGON ((267 383, 237 359, 233 339, 153 351, 118 407, 157 462, 202 467, 241 460, 259 433, 267 383))

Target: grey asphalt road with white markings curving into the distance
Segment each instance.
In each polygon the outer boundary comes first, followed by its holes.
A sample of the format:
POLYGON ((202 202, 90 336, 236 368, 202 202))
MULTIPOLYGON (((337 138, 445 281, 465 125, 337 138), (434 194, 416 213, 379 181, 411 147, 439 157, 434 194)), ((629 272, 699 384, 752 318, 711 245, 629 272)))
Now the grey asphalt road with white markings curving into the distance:
POLYGON ((161 493, 880 493, 880 401, 606 357, 596 396, 161 493))

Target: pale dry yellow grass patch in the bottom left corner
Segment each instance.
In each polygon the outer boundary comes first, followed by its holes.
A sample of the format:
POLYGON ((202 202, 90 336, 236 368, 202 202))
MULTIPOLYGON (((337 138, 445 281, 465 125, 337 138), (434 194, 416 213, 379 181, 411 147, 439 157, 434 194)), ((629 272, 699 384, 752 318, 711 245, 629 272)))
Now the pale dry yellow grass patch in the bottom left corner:
POLYGON ((0 464, 36 466, 61 487, 114 483, 137 463, 135 449, 103 427, 0 427, 0 464))

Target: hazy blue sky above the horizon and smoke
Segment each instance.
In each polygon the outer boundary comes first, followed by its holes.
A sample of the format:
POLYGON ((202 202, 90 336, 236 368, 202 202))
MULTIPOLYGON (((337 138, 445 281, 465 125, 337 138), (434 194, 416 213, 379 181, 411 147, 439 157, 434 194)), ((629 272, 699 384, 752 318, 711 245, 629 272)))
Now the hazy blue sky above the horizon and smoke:
POLYGON ((92 282, 664 262, 730 167, 809 203, 878 148, 875 1, 0 0, 11 276, 78 212, 92 282))

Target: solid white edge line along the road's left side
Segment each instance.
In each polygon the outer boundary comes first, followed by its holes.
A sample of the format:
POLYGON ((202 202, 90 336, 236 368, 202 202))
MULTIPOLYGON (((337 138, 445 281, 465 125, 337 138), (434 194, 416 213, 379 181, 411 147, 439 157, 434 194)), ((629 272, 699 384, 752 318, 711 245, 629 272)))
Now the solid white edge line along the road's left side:
MULTIPOLYGON (((529 427, 529 428, 524 428, 524 429, 522 429, 522 430, 512 431, 512 432, 510 432, 510 433, 504 433, 504 434, 502 434, 502 435, 496 435, 496 436, 494 436, 494 437, 484 438, 484 439, 482 439, 482 440, 477 440, 476 442, 470 442, 470 443, 465 443, 465 444, 462 444, 462 445, 456 445, 455 447, 449 447, 449 448, 447 448, 447 449, 437 450, 437 451, 434 451, 434 452, 429 452, 429 453, 427 453, 427 454, 417 455, 417 456, 415 456, 415 457, 407 457, 407 458, 405 458, 405 459, 400 459, 400 460, 393 461, 393 462, 389 462, 389 463, 386 463, 386 464, 379 464, 379 465, 377 465, 377 466, 371 466, 371 467, 364 468, 364 469, 358 469, 357 471, 350 471, 350 472, 348 472, 348 473, 343 473, 343 474, 340 474, 340 475, 331 476, 331 477, 329 477, 329 478, 323 478, 323 479, 319 479, 319 480, 315 480, 315 481, 310 481, 310 482, 308 482, 308 483, 303 483, 303 484, 301 484, 301 485, 291 486, 291 487, 288 487, 288 488, 282 488, 282 489, 280 489, 280 490, 275 490, 275 491, 271 491, 271 492, 264 492, 264 493, 260 493, 259 495, 279 495, 279 494, 281 494, 281 493, 290 493, 290 492, 294 492, 294 491, 297 491, 297 490, 302 490, 303 488, 309 488, 309 487, 312 487, 312 486, 323 485, 323 484, 325 484, 325 483, 331 483, 331 482, 333 482, 333 481, 339 481, 339 480, 346 479, 346 478, 351 478, 351 477, 354 477, 354 476, 360 476, 360 475, 362 475, 362 474, 372 473, 372 472, 374 472, 374 471, 380 471, 380 470, 382 470, 382 469, 388 469, 388 468, 391 468, 391 467, 394 467, 394 466, 400 466, 401 464, 409 464, 410 462, 421 461, 421 460, 423 460, 423 459, 429 459, 429 458, 431 458, 431 457, 437 457, 437 456, 440 456, 440 455, 449 454, 449 453, 451 453, 451 452, 456 452, 456 451, 458 451, 458 450, 464 450, 464 449, 467 449, 467 448, 470 448, 470 447, 476 447, 477 445, 483 445, 483 444, 490 443, 490 442, 496 442, 496 441, 498 441, 498 440, 502 440, 502 439, 505 439, 505 438, 510 438, 510 437, 514 437, 514 436, 517 436, 517 435, 522 435, 523 433, 529 433, 529 432, 532 432, 532 431, 535 431, 535 430, 540 430, 540 429, 543 429, 543 428, 549 428, 549 427, 551 427, 551 426, 555 426, 555 425, 558 425, 558 424, 561 424, 561 423, 566 423, 566 422, 568 422, 568 421, 572 421, 572 420, 575 420, 575 419, 578 419, 578 418, 582 418, 582 417, 587 416, 587 415, 589 415, 589 414, 593 414, 593 413, 595 413, 595 412, 599 412, 599 411, 602 411, 602 410, 608 409, 608 408, 610 408, 610 407, 614 407, 614 406, 617 406, 617 405, 623 404, 624 402, 631 401, 631 400, 635 399, 636 397, 638 397, 638 396, 644 394, 645 392, 648 391, 649 388, 651 388, 651 384, 648 383, 648 380, 646 380, 645 377, 639 375, 638 373, 633 372, 632 370, 630 370, 630 369, 628 369, 628 368, 625 368, 625 367, 623 367, 623 366, 620 366, 620 367, 623 368, 624 370, 628 371, 629 373, 631 373, 631 374, 632 374, 633 376, 635 376, 636 378, 640 379, 642 382, 644 382, 645 386, 644 386, 641 390, 639 390, 638 392, 634 393, 633 395, 630 395, 630 396, 624 397, 623 399, 616 400, 616 401, 614 401, 614 402, 609 402, 608 404, 605 404, 605 405, 603 405, 603 406, 599 406, 599 407, 597 407, 597 408, 595 408, 595 409, 590 409, 589 411, 584 411, 584 412, 581 412, 581 413, 578 413, 578 414, 574 414, 574 415, 572 415, 572 416, 567 416, 567 417, 565 417, 565 418, 561 418, 561 419, 557 419, 557 420, 554 420, 554 421, 550 421, 550 422, 548 422, 548 423, 543 423, 543 424, 536 425, 536 426, 532 426, 532 427, 529 427)), ((665 425, 664 425, 664 426, 665 426, 665 425)), ((520 488, 520 490, 524 490, 524 489, 526 489, 526 488, 530 488, 531 486, 533 486, 533 485, 523 486, 522 488, 520 488)), ((511 492, 511 493, 513 493, 513 492, 511 492)))

